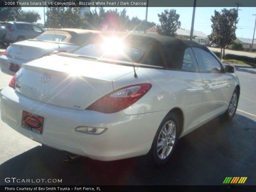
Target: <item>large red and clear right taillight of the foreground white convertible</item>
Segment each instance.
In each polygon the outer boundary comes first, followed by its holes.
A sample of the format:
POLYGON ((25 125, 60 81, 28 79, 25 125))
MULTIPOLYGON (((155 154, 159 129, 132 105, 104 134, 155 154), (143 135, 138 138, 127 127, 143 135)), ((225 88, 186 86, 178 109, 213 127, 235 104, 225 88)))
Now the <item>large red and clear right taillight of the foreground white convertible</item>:
POLYGON ((139 100, 151 87, 152 85, 147 83, 118 89, 95 101, 86 109, 102 113, 115 113, 121 111, 139 100))

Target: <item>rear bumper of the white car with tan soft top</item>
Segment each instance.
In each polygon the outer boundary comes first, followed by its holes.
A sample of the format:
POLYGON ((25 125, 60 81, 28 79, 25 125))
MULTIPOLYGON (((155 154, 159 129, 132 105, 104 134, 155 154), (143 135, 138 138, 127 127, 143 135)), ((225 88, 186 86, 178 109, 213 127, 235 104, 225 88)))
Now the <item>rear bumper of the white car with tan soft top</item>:
POLYGON ((23 63, 27 63, 29 60, 19 60, 19 59, 13 59, 10 57, 6 57, 5 55, 2 55, 0 57, 0 69, 3 73, 6 73, 8 75, 14 75, 16 72, 13 72, 10 70, 10 64, 13 63, 15 65, 18 65, 20 68, 22 67, 23 63))

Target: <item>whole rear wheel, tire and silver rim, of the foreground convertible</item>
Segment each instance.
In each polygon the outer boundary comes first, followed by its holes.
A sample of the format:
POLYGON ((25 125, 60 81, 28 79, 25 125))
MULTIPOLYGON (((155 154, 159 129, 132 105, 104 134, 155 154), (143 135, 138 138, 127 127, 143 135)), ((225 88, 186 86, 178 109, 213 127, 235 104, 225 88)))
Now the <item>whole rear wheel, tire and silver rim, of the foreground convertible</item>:
POLYGON ((171 157, 179 138, 180 122, 174 113, 169 113, 158 127, 149 155, 156 165, 165 164, 171 157))

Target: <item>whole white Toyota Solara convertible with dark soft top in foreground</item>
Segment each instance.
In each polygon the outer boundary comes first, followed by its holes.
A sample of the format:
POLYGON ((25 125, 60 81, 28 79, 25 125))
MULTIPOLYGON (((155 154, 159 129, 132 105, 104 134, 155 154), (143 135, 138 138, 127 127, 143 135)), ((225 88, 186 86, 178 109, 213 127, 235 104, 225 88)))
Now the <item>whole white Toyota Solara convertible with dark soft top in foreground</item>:
POLYGON ((23 64, 1 91, 1 118, 71 154, 102 161, 148 154, 161 165, 178 138, 217 116, 235 115, 234 72, 191 41, 100 34, 72 54, 23 64))

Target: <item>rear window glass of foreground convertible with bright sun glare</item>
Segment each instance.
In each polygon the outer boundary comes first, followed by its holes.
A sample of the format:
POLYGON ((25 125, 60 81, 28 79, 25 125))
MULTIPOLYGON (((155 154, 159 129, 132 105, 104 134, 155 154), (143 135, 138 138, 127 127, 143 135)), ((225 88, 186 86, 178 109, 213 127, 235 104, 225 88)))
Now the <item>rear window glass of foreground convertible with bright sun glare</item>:
POLYGON ((76 50, 74 53, 84 56, 108 58, 121 61, 138 61, 143 52, 140 49, 115 44, 88 44, 76 50))

